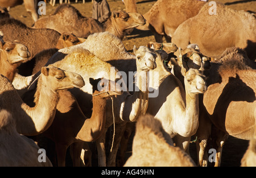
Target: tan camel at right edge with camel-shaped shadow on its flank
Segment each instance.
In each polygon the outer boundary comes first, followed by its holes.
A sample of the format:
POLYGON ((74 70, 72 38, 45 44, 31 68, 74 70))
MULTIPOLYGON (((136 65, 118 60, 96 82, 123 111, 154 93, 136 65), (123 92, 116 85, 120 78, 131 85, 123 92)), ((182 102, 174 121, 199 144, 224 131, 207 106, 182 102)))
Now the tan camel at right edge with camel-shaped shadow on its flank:
POLYGON ((208 164, 205 147, 210 137, 217 150, 215 166, 220 166, 222 147, 228 135, 252 139, 255 134, 256 72, 246 65, 250 63, 243 50, 229 48, 220 60, 212 62, 212 69, 204 72, 209 87, 200 105, 196 133, 200 166, 208 164))

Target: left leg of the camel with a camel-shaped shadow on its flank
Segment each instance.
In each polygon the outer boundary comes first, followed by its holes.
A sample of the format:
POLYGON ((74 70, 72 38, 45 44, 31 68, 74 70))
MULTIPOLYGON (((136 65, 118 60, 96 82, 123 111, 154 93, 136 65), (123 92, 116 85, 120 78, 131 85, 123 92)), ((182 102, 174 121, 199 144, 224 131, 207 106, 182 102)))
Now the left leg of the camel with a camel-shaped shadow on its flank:
POLYGON ((212 130, 212 123, 204 109, 205 108, 200 108, 199 128, 196 132, 197 166, 201 167, 208 166, 208 152, 206 151, 206 148, 212 130))

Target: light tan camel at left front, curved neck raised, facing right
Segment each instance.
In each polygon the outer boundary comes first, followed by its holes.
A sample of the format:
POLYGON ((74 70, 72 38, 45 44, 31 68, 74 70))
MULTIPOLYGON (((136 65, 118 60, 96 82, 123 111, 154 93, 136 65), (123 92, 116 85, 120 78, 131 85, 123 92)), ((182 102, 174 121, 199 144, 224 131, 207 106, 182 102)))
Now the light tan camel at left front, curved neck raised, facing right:
POLYGON ((42 67, 35 94, 35 107, 25 104, 13 85, 3 75, 0 77, 0 108, 13 114, 18 133, 36 135, 44 132, 52 124, 59 96, 57 90, 84 86, 80 75, 58 69, 42 67))

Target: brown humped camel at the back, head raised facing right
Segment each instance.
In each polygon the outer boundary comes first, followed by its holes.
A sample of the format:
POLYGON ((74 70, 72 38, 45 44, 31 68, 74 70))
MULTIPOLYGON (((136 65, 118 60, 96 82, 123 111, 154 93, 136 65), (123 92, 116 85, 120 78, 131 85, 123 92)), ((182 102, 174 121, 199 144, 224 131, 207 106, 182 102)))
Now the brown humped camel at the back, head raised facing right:
POLYGON ((51 28, 56 31, 73 32, 74 35, 86 38, 92 33, 108 31, 120 39, 125 36, 127 29, 143 26, 144 18, 141 14, 113 11, 103 27, 93 18, 86 18, 71 5, 60 5, 52 15, 40 18, 33 28, 51 28))

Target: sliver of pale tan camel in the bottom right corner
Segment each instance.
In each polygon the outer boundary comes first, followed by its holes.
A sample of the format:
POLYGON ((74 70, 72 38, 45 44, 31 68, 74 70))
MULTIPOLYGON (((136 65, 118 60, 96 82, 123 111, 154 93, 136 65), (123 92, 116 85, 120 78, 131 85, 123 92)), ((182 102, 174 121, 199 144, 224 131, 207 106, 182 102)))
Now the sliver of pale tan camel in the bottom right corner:
POLYGON ((255 136, 250 140, 249 147, 246 150, 243 158, 241 159, 242 167, 255 167, 256 166, 256 139, 255 136))

